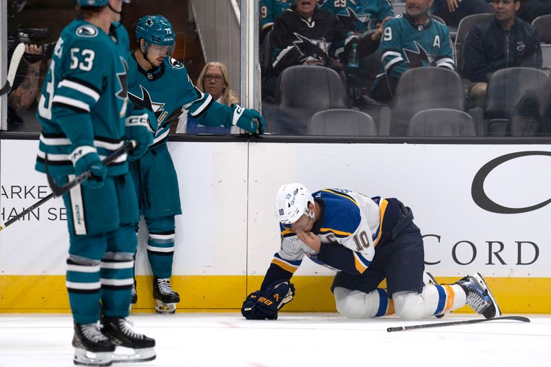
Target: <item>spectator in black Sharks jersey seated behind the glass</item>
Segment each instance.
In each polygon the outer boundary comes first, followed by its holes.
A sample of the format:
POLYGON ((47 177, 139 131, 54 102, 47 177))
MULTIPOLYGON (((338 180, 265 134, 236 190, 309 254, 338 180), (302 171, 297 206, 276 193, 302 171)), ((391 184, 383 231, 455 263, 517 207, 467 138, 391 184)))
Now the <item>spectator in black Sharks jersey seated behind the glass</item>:
POLYGON ((278 76, 289 66, 340 65, 334 59, 335 50, 344 46, 345 38, 335 14, 318 8, 315 0, 298 1, 275 19, 262 96, 275 96, 278 76))

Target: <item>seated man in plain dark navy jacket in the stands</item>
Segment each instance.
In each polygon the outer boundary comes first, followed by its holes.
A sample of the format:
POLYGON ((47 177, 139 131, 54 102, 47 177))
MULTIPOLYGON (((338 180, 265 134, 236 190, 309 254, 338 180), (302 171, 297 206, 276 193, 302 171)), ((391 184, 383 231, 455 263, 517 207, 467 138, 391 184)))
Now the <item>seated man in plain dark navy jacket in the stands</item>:
POLYGON ((475 25, 467 35, 465 67, 472 81, 467 94, 478 107, 484 108, 492 73, 506 67, 541 67, 539 34, 515 17, 520 5, 520 0, 494 0, 493 17, 475 25))

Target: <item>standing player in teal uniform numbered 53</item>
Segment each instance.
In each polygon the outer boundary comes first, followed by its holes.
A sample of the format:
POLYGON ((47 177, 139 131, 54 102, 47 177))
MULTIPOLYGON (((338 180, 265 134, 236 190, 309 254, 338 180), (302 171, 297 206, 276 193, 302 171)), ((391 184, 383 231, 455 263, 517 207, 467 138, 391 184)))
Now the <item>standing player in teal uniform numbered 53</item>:
POLYGON ((152 144, 147 129, 152 114, 127 108, 124 57, 129 39, 119 23, 123 0, 76 3, 81 14, 61 32, 41 90, 37 118, 42 134, 35 166, 56 185, 85 172, 92 175, 63 194, 73 361, 83 366, 150 361, 156 356, 155 340, 132 331, 125 317, 139 218, 127 156, 137 159, 152 144), (125 140, 135 140, 136 149, 103 165, 102 159, 125 140), (98 325, 100 300, 103 328, 98 325))

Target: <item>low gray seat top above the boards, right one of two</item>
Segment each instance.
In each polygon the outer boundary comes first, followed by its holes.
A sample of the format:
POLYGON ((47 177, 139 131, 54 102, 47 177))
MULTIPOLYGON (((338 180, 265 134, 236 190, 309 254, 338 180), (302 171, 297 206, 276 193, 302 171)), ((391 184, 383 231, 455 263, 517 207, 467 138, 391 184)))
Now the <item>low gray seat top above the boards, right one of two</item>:
POLYGON ((469 114, 457 109, 435 108, 417 112, 408 127, 408 136, 477 136, 469 114))

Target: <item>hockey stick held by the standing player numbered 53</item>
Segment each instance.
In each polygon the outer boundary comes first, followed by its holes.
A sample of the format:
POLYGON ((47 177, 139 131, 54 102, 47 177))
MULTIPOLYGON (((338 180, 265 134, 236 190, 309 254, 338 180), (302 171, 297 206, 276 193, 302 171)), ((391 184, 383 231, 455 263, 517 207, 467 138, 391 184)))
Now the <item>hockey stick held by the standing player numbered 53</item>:
MULTIPOLYGON (((114 160, 116 160, 116 158, 122 156, 127 151, 131 151, 132 149, 134 149, 134 147, 136 147, 136 142, 134 140, 130 140, 128 143, 126 143, 125 145, 123 145, 122 147, 120 147, 116 151, 114 151, 110 156, 107 156, 106 158, 104 158, 101 162, 104 166, 108 166, 114 160)), ((46 171, 48 171, 48 165, 46 165, 46 166, 47 166, 46 171)), ((70 189, 75 187, 76 185, 80 185, 81 182, 83 182, 84 180, 87 180, 91 176, 90 171, 85 171, 83 174, 81 174, 81 175, 77 176, 76 178, 74 178, 74 180, 72 180, 71 182, 68 182, 66 185, 63 185, 63 186, 60 187, 60 186, 55 184, 52 176, 48 175, 48 172, 46 172, 46 175, 48 176, 48 183, 50 184, 50 188, 52 189, 52 193, 50 193, 50 195, 46 196, 45 198, 41 199, 40 201, 35 202, 33 205, 31 205, 27 209, 21 211, 21 213, 17 214, 17 216, 14 216, 10 220, 8 220, 8 222, 6 222, 4 224, 0 224, 0 231, 4 228, 8 227, 10 224, 13 224, 14 222, 17 222, 17 220, 19 220, 20 218, 23 218, 23 216, 30 213, 34 209, 37 209, 38 207, 40 207, 41 205, 43 205, 45 202, 49 201, 50 199, 56 198, 57 196, 61 196, 61 195, 63 195, 63 193, 66 193, 67 191, 69 191, 70 189)))

